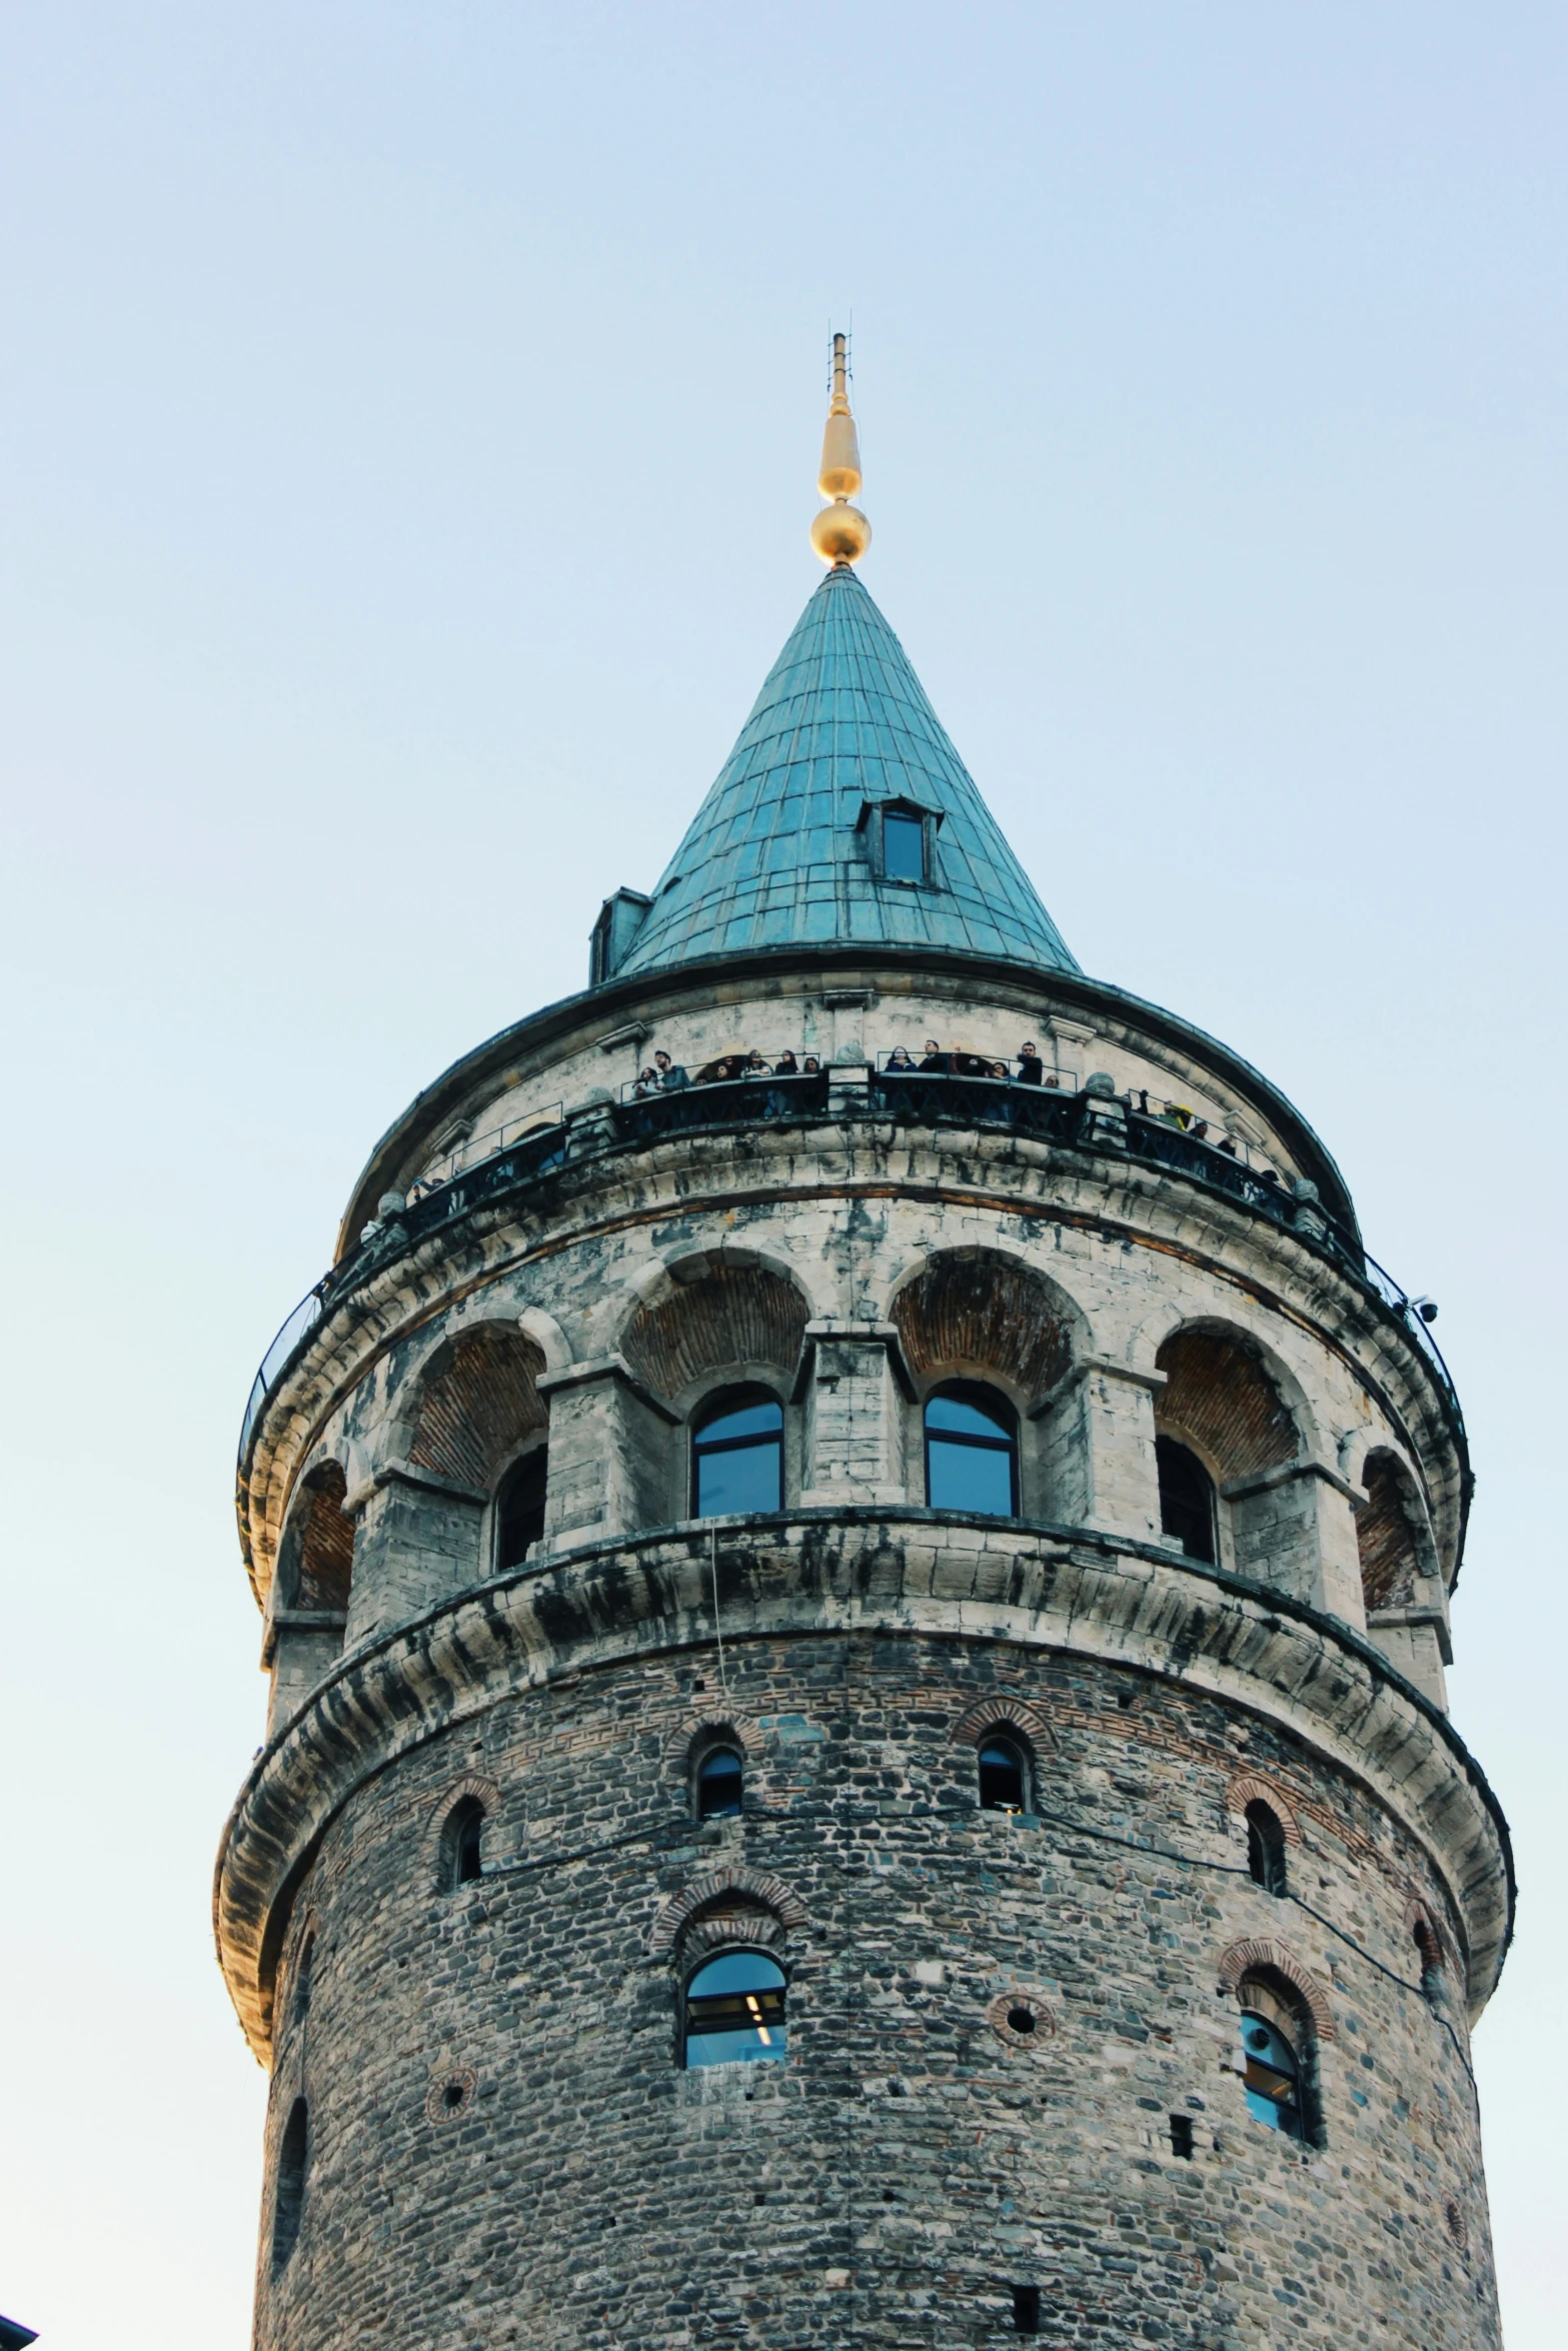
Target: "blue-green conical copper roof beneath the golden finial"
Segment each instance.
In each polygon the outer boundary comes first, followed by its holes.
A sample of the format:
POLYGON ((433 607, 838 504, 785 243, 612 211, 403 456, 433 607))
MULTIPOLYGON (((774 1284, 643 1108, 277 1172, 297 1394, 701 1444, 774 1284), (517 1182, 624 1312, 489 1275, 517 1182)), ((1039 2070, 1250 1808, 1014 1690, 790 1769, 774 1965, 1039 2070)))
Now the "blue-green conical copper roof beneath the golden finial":
POLYGON ((816 590, 618 973, 797 943, 959 947, 1077 971, 853 571, 816 590), (933 872, 884 882, 867 804, 933 811, 933 872))

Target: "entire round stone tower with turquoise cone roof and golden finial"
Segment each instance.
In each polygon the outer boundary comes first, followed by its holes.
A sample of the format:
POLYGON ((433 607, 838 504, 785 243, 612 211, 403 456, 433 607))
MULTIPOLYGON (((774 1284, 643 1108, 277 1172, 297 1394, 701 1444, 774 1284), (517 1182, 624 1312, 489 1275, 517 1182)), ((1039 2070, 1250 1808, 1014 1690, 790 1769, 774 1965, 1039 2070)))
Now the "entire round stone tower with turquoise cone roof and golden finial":
POLYGON ((1465 1425, 853 571, 256 1380, 266 2351, 1495 2346, 1465 1425), (752 1063, 757 1056, 757 1063, 752 1063))

